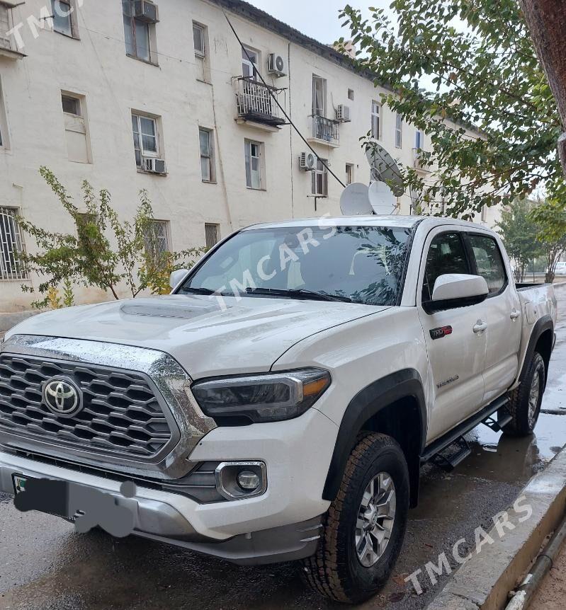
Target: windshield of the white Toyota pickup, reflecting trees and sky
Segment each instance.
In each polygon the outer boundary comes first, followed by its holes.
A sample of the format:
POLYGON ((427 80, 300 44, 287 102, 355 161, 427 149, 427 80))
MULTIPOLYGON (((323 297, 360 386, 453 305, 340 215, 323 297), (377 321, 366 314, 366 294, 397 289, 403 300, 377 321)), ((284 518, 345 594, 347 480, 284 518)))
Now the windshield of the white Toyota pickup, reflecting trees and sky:
POLYGON ((249 229, 213 252, 179 293, 395 305, 410 234, 387 226, 249 229))

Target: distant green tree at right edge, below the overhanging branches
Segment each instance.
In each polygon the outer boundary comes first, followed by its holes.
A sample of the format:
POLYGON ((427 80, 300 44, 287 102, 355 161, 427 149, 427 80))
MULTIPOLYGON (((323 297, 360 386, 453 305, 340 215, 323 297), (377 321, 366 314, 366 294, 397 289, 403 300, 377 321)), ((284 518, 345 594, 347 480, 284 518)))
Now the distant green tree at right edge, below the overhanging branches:
POLYGON ((541 202, 531 210, 531 218, 538 225, 537 239, 546 257, 545 282, 554 282, 556 263, 566 251, 566 212, 560 203, 541 202))

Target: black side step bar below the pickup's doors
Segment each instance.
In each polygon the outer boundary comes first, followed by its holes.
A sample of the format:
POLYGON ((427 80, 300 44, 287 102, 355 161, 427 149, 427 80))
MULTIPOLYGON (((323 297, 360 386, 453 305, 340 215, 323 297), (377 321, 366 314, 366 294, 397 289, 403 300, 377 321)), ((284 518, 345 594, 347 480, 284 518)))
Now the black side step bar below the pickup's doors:
POLYGON ((472 415, 471 418, 458 424, 453 430, 447 432, 446 435, 431 442, 431 444, 425 447, 424 453, 421 455, 421 464, 434 461, 435 464, 442 464, 441 468, 448 467, 447 464, 449 464, 450 470, 453 470, 455 466, 458 466, 461 461, 470 455, 470 447, 468 446, 468 442, 465 440, 464 435, 468 434, 470 430, 481 423, 484 423, 495 432, 499 432, 504 425, 511 421, 511 415, 505 409, 508 403, 509 398, 507 396, 497 398, 497 400, 489 403, 487 407, 482 408, 482 410, 475 413, 475 415, 472 415), (501 414, 502 417, 499 420, 494 420, 492 415, 499 409, 504 410, 501 414), (460 451, 458 451, 457 454, 451 456, 451 458, 439 455, 444 449, 450 447, 455 442, 458 442, 460 445, 460 451))

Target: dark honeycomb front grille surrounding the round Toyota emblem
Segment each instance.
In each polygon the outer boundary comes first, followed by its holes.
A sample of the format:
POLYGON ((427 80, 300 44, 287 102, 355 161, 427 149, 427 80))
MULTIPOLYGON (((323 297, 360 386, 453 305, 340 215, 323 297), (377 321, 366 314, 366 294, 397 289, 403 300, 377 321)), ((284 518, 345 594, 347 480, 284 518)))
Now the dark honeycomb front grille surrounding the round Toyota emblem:
POLYGON ((147 459, 171 440, 164 410, 141 374, 72 362, 0 355, 0 431, 98 453, 147 459), (43 404, 52 376, 72 379, 83 408, 61 418, 43 404))

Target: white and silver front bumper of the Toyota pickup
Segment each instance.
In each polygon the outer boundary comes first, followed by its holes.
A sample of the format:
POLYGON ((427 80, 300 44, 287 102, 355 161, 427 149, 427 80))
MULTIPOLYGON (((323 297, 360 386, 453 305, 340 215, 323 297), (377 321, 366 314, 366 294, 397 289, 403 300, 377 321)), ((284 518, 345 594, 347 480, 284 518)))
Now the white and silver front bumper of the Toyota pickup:
POLYGON ((261 459, 268 487, 257 497, 198 504, 185 495, 144 487, 135 496, 120 493, 112 473, 84 473, 1 452, 0 490, 13 493, 13 473, 86 485, 111 494, 135 514, 134 534, 235 563, 273 563, 315 552, 319 515, 328 506, 322 488, 337 427, 312 408, 287 422, 217 428, 198 444, 191 461, 261 459))

